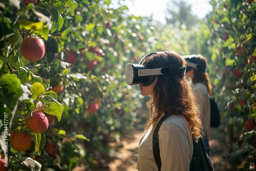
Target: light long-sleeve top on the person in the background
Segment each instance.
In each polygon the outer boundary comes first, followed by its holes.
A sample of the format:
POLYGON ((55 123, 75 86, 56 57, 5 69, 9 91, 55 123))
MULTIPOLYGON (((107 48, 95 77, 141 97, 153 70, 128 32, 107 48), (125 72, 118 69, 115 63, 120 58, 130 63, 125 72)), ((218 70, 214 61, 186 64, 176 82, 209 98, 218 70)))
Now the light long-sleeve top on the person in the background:
POLYGON ((203 129, 207 132, 210 129, 210 99, 207 88, 199 82, 193 85, 193 91, 202 114, 203 129))

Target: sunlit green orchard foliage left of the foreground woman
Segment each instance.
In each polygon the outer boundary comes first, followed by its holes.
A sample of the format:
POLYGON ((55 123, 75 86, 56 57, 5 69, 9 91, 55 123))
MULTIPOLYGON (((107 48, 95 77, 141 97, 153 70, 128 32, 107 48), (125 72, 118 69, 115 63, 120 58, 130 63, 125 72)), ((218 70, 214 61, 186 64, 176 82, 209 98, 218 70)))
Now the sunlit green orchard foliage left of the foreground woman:
POLYGON ((133 128, 142 106, 138 91, 126 86, 123 66, 150 50, 150 18, 142 25, 141 17, 125 15, 126 6, 114 9, 108 0, 27 6, 6 0, 0 5, 1 132, 22 130, 33 138, 26 152, 9 145, 7 153, 1 143, 8 167, 26 170, 31 165, 25 160, 41 170, 104 167, 110 159, 108 142, 119 142, 120 134, 133 128), (25 37, 44 40, 44 58, 23 57, 25 37), (36 109, 38 102, 42 106, 36 109), (35 110, 54 116, 45 133, 33 133, 26 125, 25 115, 35 110))

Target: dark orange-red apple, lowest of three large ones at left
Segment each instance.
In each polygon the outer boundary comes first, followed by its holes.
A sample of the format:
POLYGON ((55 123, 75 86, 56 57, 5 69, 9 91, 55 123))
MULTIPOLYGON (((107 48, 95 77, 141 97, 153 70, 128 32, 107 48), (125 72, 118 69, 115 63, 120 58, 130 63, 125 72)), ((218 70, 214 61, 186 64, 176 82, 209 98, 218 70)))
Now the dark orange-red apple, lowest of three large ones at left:
POLYGON ((15 130, 10 135, 10 145, 16 151, 27 151, 32 145, 32 137, 26 133, 19 130, 15 130))

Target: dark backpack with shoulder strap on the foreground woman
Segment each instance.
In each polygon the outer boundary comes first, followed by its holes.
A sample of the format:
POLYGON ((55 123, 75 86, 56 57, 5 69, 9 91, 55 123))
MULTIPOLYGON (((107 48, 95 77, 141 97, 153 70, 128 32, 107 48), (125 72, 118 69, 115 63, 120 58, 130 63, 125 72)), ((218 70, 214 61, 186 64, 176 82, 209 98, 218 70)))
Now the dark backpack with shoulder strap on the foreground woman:
MULTIPOLYGON (((161 159, 159 149, 159 137, 158 131, 163 121, 168 118, 169 115, 165 114, 158 122, 156 129, 153 133, 153 154, 158 166, 158 170, 161 170, 161 159)), ((214 166, 211 163, 209 156, 207 155, 203 143, 203 137, 200 135, 193 139, 193 156, 190 162, 190 171, 214 171, 214 166)))

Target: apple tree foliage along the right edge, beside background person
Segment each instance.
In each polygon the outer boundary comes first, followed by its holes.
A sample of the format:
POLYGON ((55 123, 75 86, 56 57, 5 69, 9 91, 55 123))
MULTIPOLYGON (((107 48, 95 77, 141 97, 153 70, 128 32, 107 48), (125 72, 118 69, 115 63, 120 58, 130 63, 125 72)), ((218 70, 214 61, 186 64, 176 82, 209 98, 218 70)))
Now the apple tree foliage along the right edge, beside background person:
POLYGON ((225 152, 232 170, 255 168, 256 3, 211 1, 211 79, 221 109, 225 152))

